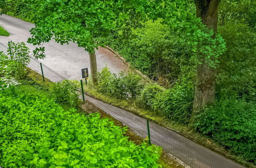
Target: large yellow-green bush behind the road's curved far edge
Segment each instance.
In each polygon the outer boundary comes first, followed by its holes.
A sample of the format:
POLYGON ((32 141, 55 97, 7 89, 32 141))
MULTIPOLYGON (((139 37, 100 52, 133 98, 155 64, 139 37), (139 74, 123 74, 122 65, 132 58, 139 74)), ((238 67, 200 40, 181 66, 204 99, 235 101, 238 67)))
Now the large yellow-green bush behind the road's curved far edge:
POLYGON ((143 23, 142 27, 132 31, 130 37, 123 38, 121 34, 125 33, 116 31, 101 40, 118 51, 134 68, 162 81, 163 85, 173 83, 180 74, 181 65, 187 64, 190 58, 190 46, 160 20, 143 23))

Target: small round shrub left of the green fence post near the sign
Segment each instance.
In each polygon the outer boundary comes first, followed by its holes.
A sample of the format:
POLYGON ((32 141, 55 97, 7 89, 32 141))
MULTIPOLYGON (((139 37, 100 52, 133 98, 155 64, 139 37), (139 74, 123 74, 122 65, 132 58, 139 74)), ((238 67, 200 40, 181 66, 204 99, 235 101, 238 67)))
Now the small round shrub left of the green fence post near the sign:
POLYGON ((57 103, 68 104, 72 107, 77 107, 79 103, 79 94, 76 89, 77 87, 69 80, 53 83, 50 88, 57 103))

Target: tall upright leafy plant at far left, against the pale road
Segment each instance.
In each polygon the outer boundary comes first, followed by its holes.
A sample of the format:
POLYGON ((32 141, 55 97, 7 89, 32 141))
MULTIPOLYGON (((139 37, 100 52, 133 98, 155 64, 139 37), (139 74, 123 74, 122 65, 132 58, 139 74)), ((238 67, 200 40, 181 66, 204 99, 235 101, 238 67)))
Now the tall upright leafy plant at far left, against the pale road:
POLYGON ((14 43, 10 41, 7 52, 10 57, 9 69, 11 69, 16 78, 25 78, 27 75, 26 66, 30 62, 29 48, 24 42, 14 43))

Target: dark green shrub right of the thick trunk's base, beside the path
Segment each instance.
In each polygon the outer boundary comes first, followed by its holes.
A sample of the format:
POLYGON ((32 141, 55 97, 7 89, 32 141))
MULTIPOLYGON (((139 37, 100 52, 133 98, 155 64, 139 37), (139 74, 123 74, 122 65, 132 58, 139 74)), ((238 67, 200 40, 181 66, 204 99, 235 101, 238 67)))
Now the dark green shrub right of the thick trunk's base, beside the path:
POLYGON ((255 161, 255 103, 235 98, 222 99, 215 106, 205 108, 196 119, 196 130, 214 138, 247 161, 255 161))

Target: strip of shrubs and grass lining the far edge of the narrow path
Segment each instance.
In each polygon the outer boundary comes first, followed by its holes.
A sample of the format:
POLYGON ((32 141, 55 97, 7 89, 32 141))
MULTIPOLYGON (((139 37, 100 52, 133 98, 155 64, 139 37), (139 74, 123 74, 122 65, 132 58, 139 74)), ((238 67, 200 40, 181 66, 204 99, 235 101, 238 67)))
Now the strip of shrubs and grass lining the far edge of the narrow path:
MULTIPOLYGON (((133 72, 116 75, 104 68, 98 74, 98 85, 95 87, 89 81, 84 91, 104 102, 173 128, 208 148, 250 166, 246 160, 255 157, 254 138, 251 138, 256 137, 253 132, 255 104, 236 99, 216 102, 218 104, 205 108, 204 113, 197 116, 197 122, 190 125, 189 110, 193 95, 189 94, 189 88, 192 89, 193 85, 189 81, 183 82, 186 85, 165 89, 156 83, 145 83, 133 72)), ((75 83, 80 86, 79 82, 75 83)))

